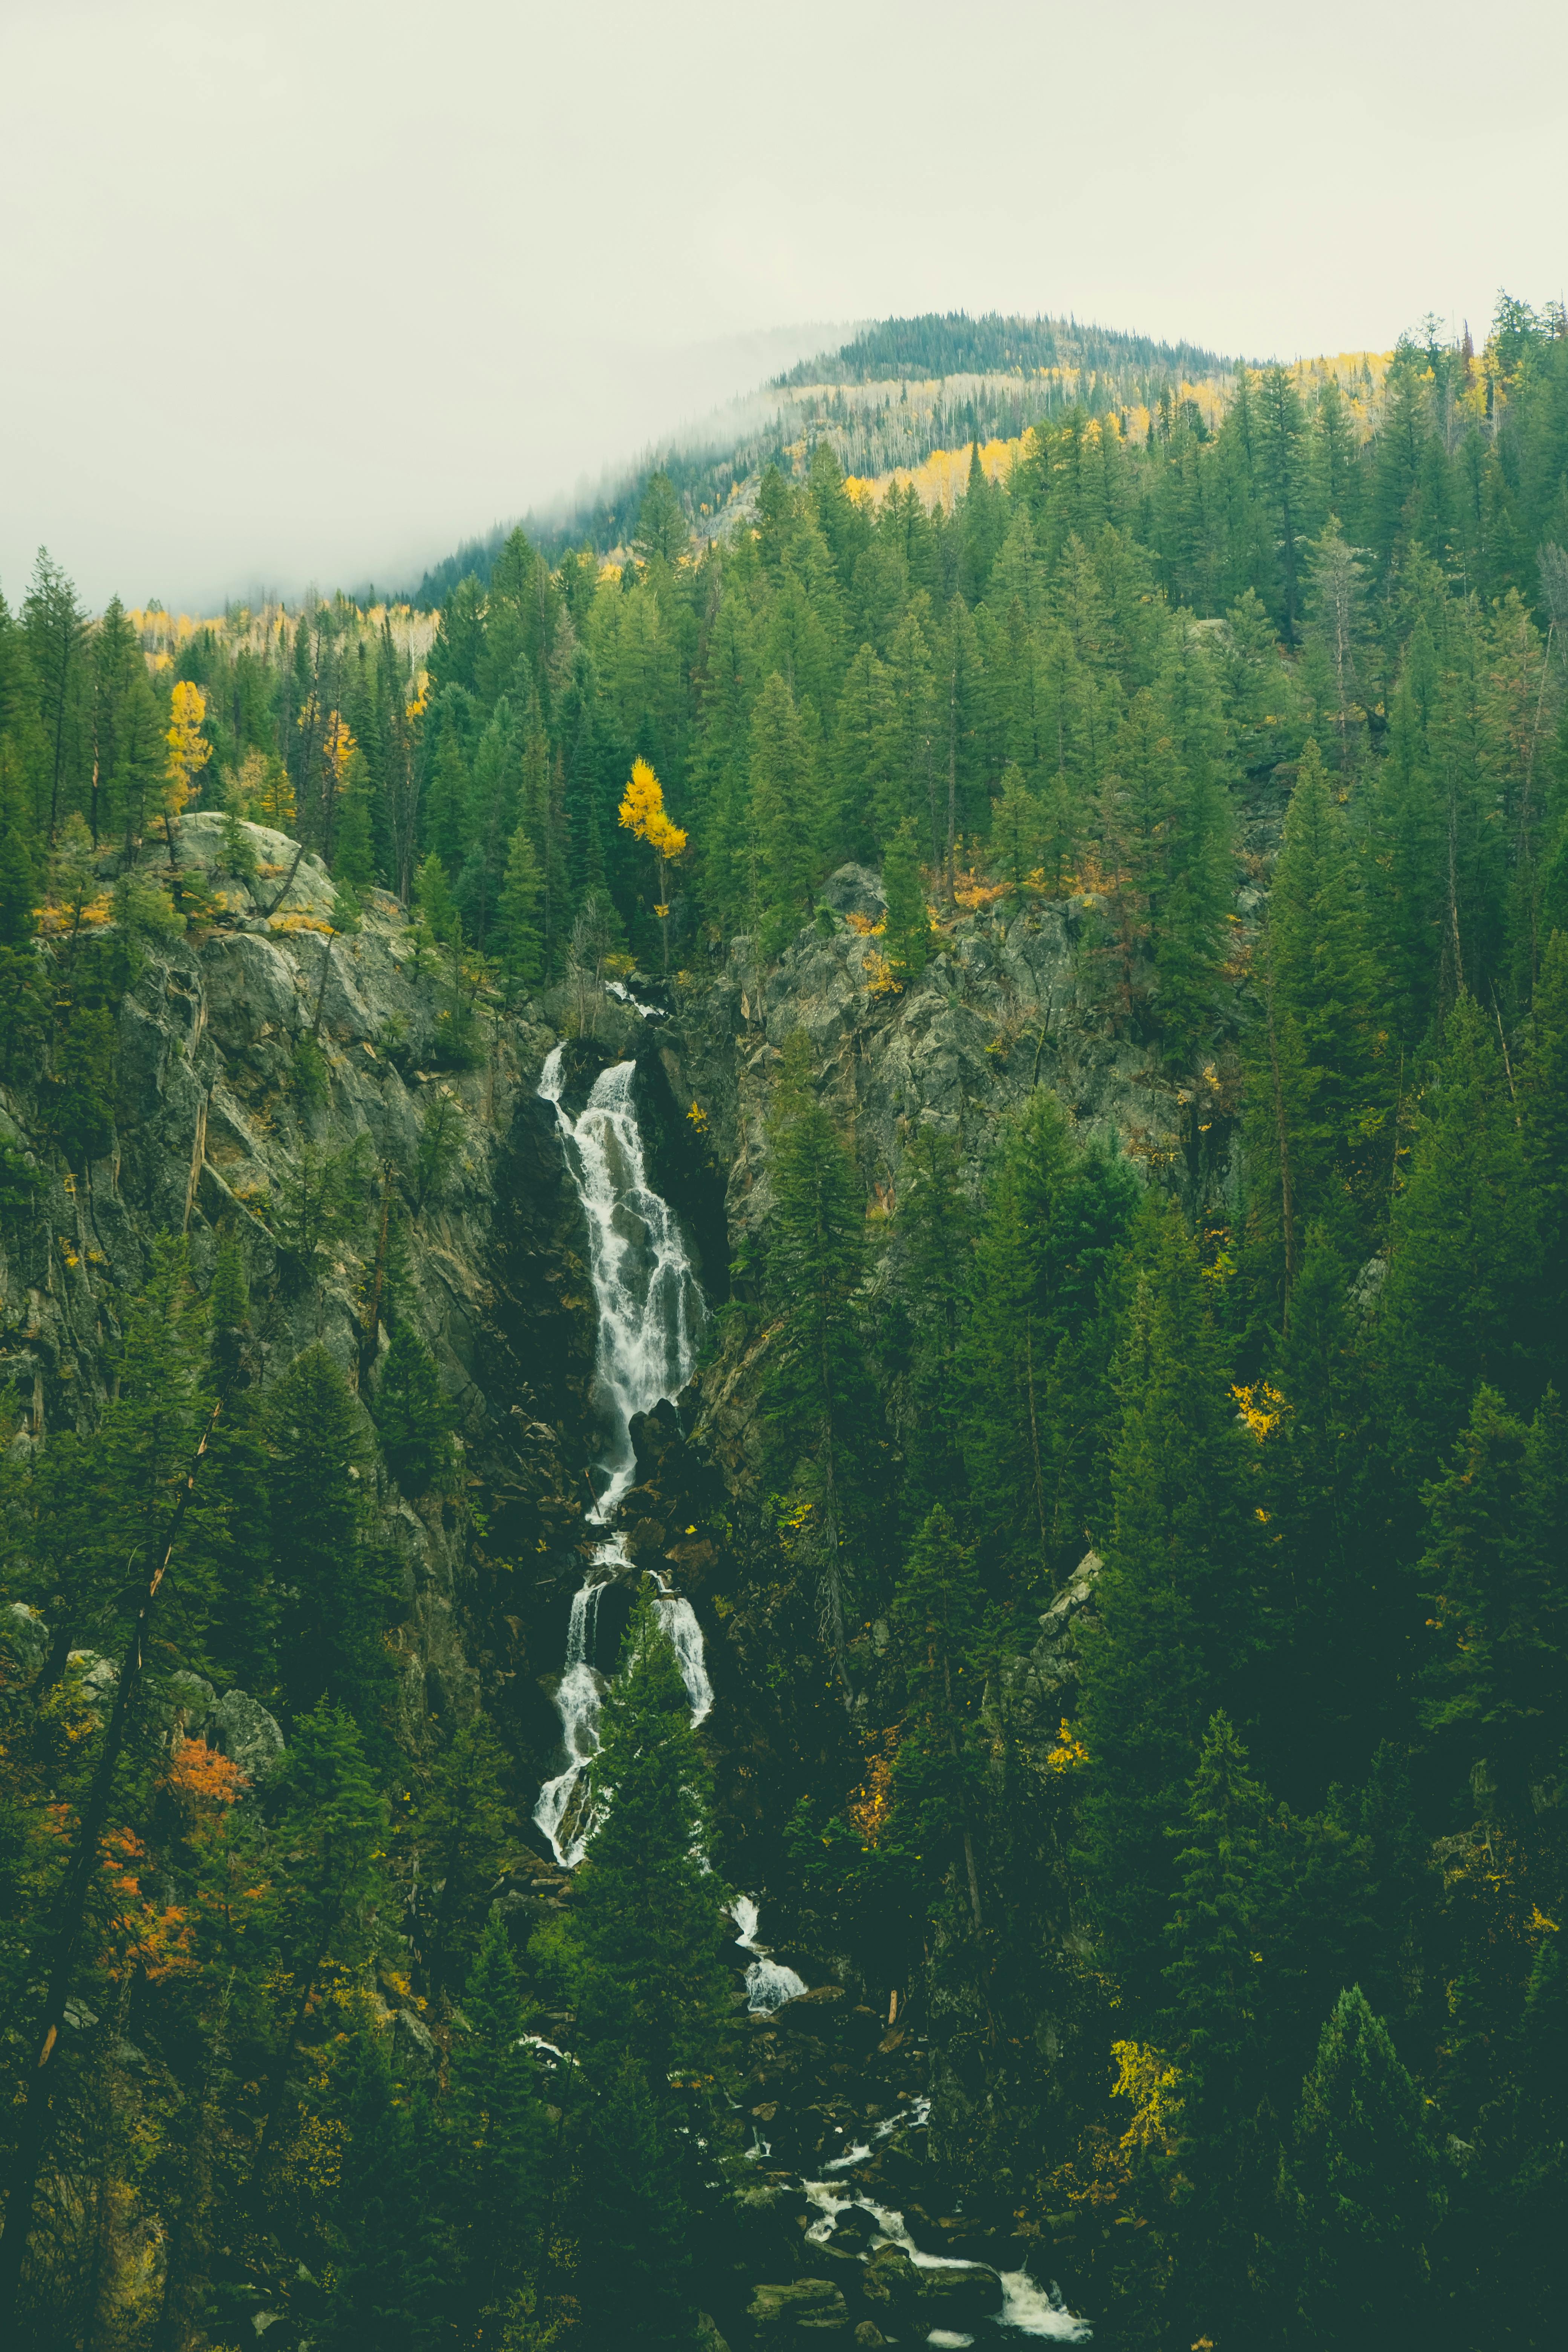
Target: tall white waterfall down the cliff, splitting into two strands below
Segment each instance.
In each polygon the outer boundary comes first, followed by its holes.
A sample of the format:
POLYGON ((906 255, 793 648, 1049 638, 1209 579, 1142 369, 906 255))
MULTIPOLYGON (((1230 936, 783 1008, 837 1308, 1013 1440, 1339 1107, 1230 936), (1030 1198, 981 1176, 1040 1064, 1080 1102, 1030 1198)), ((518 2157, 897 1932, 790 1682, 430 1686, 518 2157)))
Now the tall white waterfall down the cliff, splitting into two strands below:
MULTIPOLYGON (((571 1120, 562 1108, 562 1054, 557 1044, 545 1061, 538 1094, 555 1108, 567 1167, 588 1218, 588 1272, 599 1310, 595 1404, 604 1425, 597 1463, 602 1486, 588 1524, 602 1526, 604 1538, 595 1545, 583 1585, 571 1599, 567 1661, 555 1693, 567 1769, 545 1780, 534 1820, 550 1839, 555 1858, 574 1870, 592 1830, 588 1762, 599 1745, 599 1679, 592 1653, 599 1592, 630 1566, 625 1541, 614 1534, 611 1522, 637 1468, 632 1414, 651 1411, 661 1397, 675 1397, 686 1385, 708 1308, 675 1211, 649 1188, 632 1110, 637 1063, 618 1061, 599 1070, 581 1117, 571 1120)), ((703 1628, 691 1602, 670 1592, 665 1578, 654 1573, 656 1609, 686 1684, 691 1722, 701 1724, 712 1708, 703 1628)))

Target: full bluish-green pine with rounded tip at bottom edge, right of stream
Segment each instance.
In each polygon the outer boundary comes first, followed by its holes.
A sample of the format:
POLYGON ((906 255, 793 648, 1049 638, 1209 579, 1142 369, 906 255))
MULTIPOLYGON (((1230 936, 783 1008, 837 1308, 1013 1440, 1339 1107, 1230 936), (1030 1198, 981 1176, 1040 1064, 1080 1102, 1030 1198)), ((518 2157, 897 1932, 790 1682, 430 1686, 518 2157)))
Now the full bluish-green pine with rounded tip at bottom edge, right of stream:
POLYGON ((1302 2082, 1291 2201, 1312 2343, 1387 2352, 1425 2333, 1443 2218, 1439 2161, 1420 2091, 1359 1985, 1335 2002, 1302 2082))

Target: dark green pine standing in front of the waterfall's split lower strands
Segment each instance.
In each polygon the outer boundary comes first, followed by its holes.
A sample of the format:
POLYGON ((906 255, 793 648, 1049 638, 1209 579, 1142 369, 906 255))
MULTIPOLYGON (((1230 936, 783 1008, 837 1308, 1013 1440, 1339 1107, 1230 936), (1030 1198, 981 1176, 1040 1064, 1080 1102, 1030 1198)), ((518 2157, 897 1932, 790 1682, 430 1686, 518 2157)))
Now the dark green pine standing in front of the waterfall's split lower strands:
POLYGON ((590 1783, 599 1823, 569 1922, 583 2049, 623 2051, 658 2086, 675 2072, 708 2072, 724 1990, 719 1905, 703 1860, 708 1764, 646 1590, 604 1696, 590 1783))

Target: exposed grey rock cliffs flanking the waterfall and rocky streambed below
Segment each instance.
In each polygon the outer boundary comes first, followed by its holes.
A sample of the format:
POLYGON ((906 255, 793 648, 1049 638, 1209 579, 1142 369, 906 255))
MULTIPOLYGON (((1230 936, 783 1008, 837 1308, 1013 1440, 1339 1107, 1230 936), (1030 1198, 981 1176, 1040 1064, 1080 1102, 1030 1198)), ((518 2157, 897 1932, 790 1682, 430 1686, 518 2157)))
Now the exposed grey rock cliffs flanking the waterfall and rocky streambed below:
MULTIPOLYGON (((682 1214, 712 1308, 729 1294, 731 1261, 745 1263, 769 1216, 766 1112, 795 1030, 806 1033, 818 1084, 851 1138, 872 1218, 896 1207, 903 1152, 922 1124, 961 1138, 973 1183, 1001 1117, 1037 1084, 1056 1089, 1079 1124, 1114 1129, 1135 1160, 1161 1164, 1194 1207, 1225 1192, 1225 1070, 1208 1065, 1175 1084, 1138 1040, 1114 1033, 1079 903, 1004 901, 959 913, 926 976, 889 990, 867 936, 882 913, 877 877, 842 868, 816 927, 776 967, 762 971, 741 938, 710 971, 665 988, 635 983, 642 1004, 562 988, 489 1021, 475 1054, 454 1037, 463 1023, 454 988, 433 974, 428 948, 393 901, 374 896, 355 934, 334 931, 334 889, 320 863, 294 863, 294 844, 244 830, 261 866, 249 884, 223 870, 219 818, 181 826, 181 861, 205 868, 226 906, 200 931, 150 948, 120 1007, 113 1152, 73 1174, 49 1171, 38 1214, 12 1218, 0 1237, 0 1381, 21 1406, 21 1442, 92 1423, 113 1378, 120 1303, 139 1289, 153 1240, 186 1232, 205 1284, 219 1237, 235 1235, 254 1301, 252 1376, 266 1383, 301 1348, 322 1343, 367 1409, 388 1345, 376 1315, 378 1204, 395 1190, 409 1218, 411 1308, 463 1449, 456 1501, 411 1503, 386 1477, 376 1494, 404 1581, 395 1642, 411 1752, 433 1745, 440 1722, 461 1722, 482 1703, 517 1755, 522 1783, 536 1785, 552 1769, 550 1698, 592 1541, 583 1512, 595 1454, 585 1228, 555 1115, 536 1096, 559 1035, 569 1035, 571 1108, 604 1063, 637 1061, 649 1176, 682 1214), (310 1040, 324 1056, 315 1077, 310 1040), (458 1141, 444 1181, 425 1188, 421 1143, 430 1105, 442 1101, 458 1141), (301 1169, 346 1164, 350 1152, 367 1178, 364 1214, 303 1249, 299 1221, 289 1221, 292 1188, 301 1169)), ((26 1150, 33 1131, 26 1091, 0 1098, 0 1141, 26 1150)), ((839 1785, 858 1755, 856 1724, 837 1698, 802 1710, 799 1691, 776 1672, 788 1576, 759 1484, 764 1350, 766 1334, 750 1319, 719 1317, 679 1409, 635 1423, 637 1484, 623 1510, 632 1566, 656 1564, 698 1611, 719 1698, 708 1726, 719 1863, 759 1891, 778 1856, 780 1804, 813 1778, 839 1785)), ((1072 1621, 1091 1606, 1093 1566, 1088 1559, 1041 1618, 1034 1653, 987 1693, 1011 1769, 1039 1783, 1041 1806, 1046 1755, 1070 1712, 1072 1621)), ((879 1719, 889 1696, 886 1639, 886 1628, 870 1623, 851 1642, 860 1729, 879 1719)), ((223 1738, 221 1708, 235 1715, 233 1693, 188 1698, 193 1724, 200 1717, 223 1738)), ((505 1884, 520 1929, 562 1900, 569 1882, 543 1851, 520 1851, 505 1884)), ((1063 1910, 1060 1936, 1072 1933, 1063 1910)), ((1006 2216, 987 2220, 976 2211, 983 2199, 971 2197, 964 2218, 957 2185, 985 2171, 997 2114, 1023 2096, 1023 2074, 1027 2096, 1039 2098, 1041 2070, 1051 2072, 1070 2020, 1034 2020, 1027 2058, 999 2056, 994 2027, 952 1990, 961 1971, 938 1964, 929 1983, 889 1987, 858 1983, 820 1938, 792 1957, 818 1990, 778 2018, 752 2020, 731 2150, 733 2164, 741 2140, 757 2140, 752 2220, 762 2241, 788 2246, 790 2258, 769 2267, 743 2244, 752 2223, 733 2209, 731 2237, 710 2249, 715 2303, 731 2331, 759 2343, 797 2326, 853 2326, 870 2343, 877 2338, 865 2328, 896 2319, 898 2300, 912 2296, 940 2303, 950 2293, 961 2314, 964 2298, 978 2293, 973 2281, 943 2288, 914 2277, 896 2246, 863 2260, 882 2232, 865 2237, 849 2187, 870 2206, 907 2209, 926 2246, 969 2249, 997 2267, 1023 2260, 1027 2249, 1001 2246, 997 2234, 1011 2227, 1006 2216), (893 1990, 905 2004, 898 2023, 893 1990), (907 2126, 912 2100, 919 2124, 931 2117, 929 2133, 907 2126), (773 2164, 762 2157, 764 2140, 778 2150, 773 2164), (853 2183, 842 2183, 846 2211, 832 2216, 820 2199, 802 2206, 802 2176, 863 2140, 870 2154, 853 2183), (764 2296, 755 2307, 752 2288, 764 2296), (818 2291, 827 2300, 811 2314, 818 2291), (769 2305, 771 2293, 783 2300, 769 2305)), ((936 2305, 926 2326, 933 2317, 936 2305)))

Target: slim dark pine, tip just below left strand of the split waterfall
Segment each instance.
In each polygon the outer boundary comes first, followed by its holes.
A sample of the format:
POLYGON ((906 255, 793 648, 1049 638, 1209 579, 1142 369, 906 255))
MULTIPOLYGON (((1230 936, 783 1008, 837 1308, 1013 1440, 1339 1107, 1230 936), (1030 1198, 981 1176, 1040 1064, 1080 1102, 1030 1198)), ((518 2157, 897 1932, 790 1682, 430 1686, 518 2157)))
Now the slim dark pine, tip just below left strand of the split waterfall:
POLYGON ((458 2343, 489 2340, 508 2288, 538 2270, 548 2124, 524 2042, 522 1987, 491 1912, 451 2042, 451 2225, 461 2265, 458 2343))

